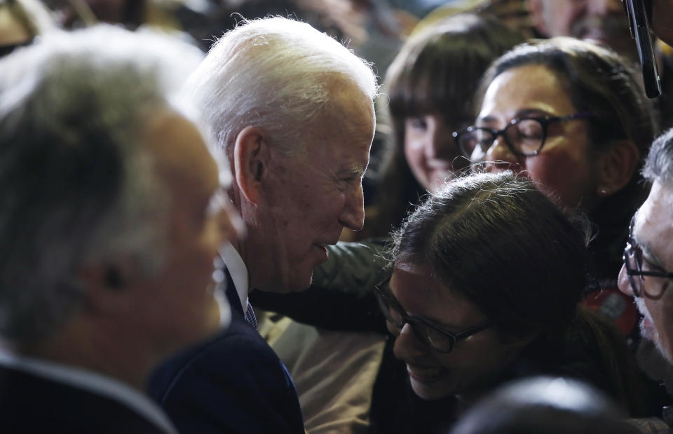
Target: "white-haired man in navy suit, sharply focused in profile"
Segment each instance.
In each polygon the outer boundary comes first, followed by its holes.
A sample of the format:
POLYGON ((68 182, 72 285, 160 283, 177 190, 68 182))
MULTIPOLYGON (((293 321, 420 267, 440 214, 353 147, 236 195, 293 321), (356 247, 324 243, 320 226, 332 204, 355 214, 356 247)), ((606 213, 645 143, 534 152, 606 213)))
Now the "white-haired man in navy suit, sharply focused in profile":
POLYGON ((306 289, 326 246, 362 227, 376 78, 311 26, 266 18, 225 34, 188 88, 229 158, 247 237, 222 251, 231 327, 163 365, 151 395, 184 432, 304 433, 292 379, 254 330, 248 294, 306 289))

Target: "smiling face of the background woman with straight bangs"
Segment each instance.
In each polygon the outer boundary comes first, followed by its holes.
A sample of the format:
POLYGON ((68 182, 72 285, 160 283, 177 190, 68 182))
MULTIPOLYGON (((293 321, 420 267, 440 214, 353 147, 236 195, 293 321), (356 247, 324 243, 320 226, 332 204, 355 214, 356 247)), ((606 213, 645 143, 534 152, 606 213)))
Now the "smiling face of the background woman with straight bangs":
POLYGON ((435 191, 468 166, 451 133, 469 124, 465 116, 449 125, 437 112, 405 118, 405 158, 416 180, 428 191, 435 191))

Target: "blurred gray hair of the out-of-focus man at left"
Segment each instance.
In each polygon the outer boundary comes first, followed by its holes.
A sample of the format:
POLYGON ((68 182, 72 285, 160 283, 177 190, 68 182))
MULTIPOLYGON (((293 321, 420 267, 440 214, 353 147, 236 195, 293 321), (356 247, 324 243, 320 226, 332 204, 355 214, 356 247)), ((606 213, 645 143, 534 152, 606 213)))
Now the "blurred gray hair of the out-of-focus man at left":
POLYGON ((200 60, 111 26, 50 35, 0 61, 0 335, 38 342, 81 303, 80 266, 156 271, 168 192, 142 145, 200 60), (192 65, 192 67, 188 67, 192 65))

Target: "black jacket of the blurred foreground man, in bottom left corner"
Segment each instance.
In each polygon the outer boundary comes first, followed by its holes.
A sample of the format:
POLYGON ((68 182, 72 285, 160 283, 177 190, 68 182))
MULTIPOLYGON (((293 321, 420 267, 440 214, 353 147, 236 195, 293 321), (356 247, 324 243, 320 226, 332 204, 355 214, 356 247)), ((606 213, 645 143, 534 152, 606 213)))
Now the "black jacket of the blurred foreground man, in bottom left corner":
POLYGON ((3 433, 161 434, 121 402, 86 389, 0 367, 3 433))

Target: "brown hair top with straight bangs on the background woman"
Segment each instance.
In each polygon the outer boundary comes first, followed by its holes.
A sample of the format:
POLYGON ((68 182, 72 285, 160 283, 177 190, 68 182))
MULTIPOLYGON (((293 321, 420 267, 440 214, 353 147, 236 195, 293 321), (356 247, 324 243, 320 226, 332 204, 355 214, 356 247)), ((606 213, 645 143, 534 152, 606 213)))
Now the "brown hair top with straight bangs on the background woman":
POLYGON ((470 112, 483 72, 523 40, 492 17, 460 14, 433 22, 407 41, 388 68, 390 114, 470 112))

